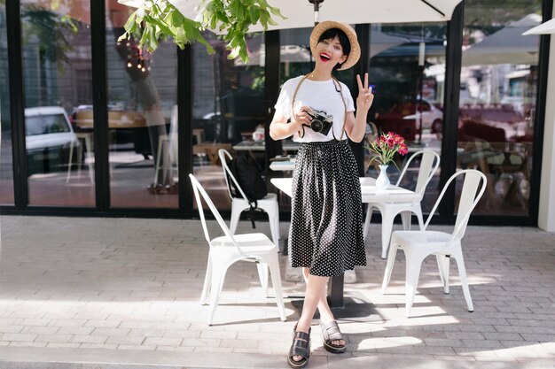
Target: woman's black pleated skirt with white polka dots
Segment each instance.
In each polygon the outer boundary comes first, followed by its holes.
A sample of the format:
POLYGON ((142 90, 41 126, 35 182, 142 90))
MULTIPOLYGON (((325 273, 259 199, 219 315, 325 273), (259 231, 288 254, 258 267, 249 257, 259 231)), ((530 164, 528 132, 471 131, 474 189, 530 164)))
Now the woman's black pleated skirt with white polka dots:
POLYGON ((332 277, 366 265, 360 181, 346 140, 301 144, 291 214, 291 266, 332 277))

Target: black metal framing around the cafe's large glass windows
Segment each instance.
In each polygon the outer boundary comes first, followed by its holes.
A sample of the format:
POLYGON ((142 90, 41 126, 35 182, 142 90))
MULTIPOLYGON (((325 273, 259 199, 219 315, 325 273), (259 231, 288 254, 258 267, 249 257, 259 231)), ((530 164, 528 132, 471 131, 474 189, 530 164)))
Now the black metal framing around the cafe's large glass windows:
MULTIPOLYGON (((460 88, 461 44, 464 27, 464 3, 457 5, 448 22, 448 47, 446 50, 447 70, 445 75, 445 110, 442 142, 441 184, 445 183, 450 173, 456 170, 458 91, 460 88)), ((543 0, 543 21, 551 19, 553 0, 543 0)), ((93 107, 95 124, 95 160, 96 188, 94 207, 46 207, 29 205, 27 183, 27 156, 25 143, 25 92, 23 84, 23 66, 21 63, 21 19, 20 0, 7 0, 6 26, 8 39, 9 83, 12 118, 12 158, 14 205, 1 206, 4 213, 26 215, 68 215, 68 216, 132 216, 137 218, 184 219, 195 216, 192 210, 192 188, 187 177, 192 173, 192 48, 177 50, 178 88, 177 105, 180 111, 178 119, 179 150, 179 202, 176 209, 159 208, 112 208, 110 207, 110 178, 108 164, 108 128, 107 128, 107 80, 106 80, 106 4, 102 1, 90 1, 91 9, 91 52, 93 73, 93 107)), ((357 73, 364 73, 370 58, 370 25, 356 26, 357 34, 363 45, 361 60, 356 66, 357 73)), ((279 87, 279 33, 270 31, 266 34, 266 103, 268 115, 266 129, 269 127, 273 113, 273 103, 277 99, 279 87)), ((539 189, 543 151, 543 129, 545 118, 545 96, 547 90, 547 73, 549 68, 550 36, 542 35, 540 43, 538 90, 535 114, 535 135, 533 149, 533 172, 529 198, 529 212, 526 216, 474 215, 471 224, 481 225, 519 225, 536 226, 539 207, 539 189)), ((267 160, 280 151, 280 142, 267 142, 267 160)), ((354 150, 360 154, 362 145, 354 150)), ((358 161, 361 158, 357 158, 358 161)), ((450 223, 453 219, 454 192, 447 194, 447 201, 440 208, 440 217, 436 223, 450 223)), ((229 215, 230 211, 222 211, 229 215)), ((285 213, 283 215, 286 215, 285 213)))

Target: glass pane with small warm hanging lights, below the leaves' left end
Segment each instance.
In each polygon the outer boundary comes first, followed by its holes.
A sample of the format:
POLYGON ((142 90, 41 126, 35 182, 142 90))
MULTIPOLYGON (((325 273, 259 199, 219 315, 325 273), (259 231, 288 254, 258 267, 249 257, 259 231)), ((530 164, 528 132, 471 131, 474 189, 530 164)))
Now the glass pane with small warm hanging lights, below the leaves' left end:
POLYGON ((133 11, 106 1, 111 205, 177 208, 177 48, 117 42, 133 11))

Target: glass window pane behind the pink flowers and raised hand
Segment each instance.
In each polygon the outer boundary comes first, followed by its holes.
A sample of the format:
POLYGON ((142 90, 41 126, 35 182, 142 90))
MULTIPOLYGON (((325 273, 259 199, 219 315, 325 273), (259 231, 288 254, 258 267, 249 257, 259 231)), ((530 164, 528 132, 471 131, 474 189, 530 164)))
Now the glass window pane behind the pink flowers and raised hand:
MULTIPOLYGON (((374 103, 368 113, 366 143, 380 133, 402 135, 409 147, 397 154, 387 171, 396 183, 408 158, 418 150, 441 154, 443 83, 445 80, 445 23, 425 25, 376 24, 371 26, 369 81, 374 103), (423 44, 423 45, 421 45, 423 44)), ((366 175, 379 175, 378 163, 365 151, 366 175)), ((401 181, 403 188, 416 188, 420 161, 413 160, 401 181)), ((430 211, 439 195, 439 171, 426 187, 422 210, 430 211)))

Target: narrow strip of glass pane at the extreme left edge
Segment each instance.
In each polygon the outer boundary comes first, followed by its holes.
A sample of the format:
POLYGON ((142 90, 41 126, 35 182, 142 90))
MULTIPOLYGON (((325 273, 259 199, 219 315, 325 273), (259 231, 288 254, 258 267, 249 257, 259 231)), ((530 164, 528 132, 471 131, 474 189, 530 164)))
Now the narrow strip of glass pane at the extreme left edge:
POLYGON ((13 205, 12 120, 5 4, 0 4, 0 204, 13 205))

